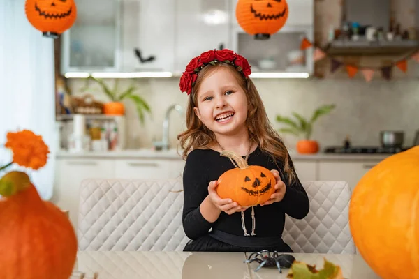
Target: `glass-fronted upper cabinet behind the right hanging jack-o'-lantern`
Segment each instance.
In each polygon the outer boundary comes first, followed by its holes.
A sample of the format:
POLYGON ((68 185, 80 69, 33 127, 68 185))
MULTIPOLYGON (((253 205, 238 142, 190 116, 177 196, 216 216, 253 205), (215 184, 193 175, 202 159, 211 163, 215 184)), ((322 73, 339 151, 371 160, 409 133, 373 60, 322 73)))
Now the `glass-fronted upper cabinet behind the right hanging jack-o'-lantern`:
POLYGON ((245 33, 235 17, 237 0, 232 8, 232 49, 246 57, 252 73, 314 73, 313 47, 300 50, 302 39, 314 40, 314 1, 288 1, 288 19, 284 27, 269 40, 255 40, 245 33), (255 50, 263 50, 257 52, 255 50))

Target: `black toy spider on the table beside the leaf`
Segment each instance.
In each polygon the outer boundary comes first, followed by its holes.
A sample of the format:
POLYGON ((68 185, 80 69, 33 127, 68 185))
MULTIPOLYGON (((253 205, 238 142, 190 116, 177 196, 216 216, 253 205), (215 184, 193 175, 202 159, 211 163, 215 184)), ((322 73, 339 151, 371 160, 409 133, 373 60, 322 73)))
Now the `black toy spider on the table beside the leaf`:
POLYGON ((255 272, 263 266, 277 266, 279 273, 282 273, 281 268, 289 269, 293 262, 295 262, 295 257, 289 254, 279 254, 277 251, 271 254, 268 250, 262 250, 260 252, 252 252, 244 262, 258 262, 259 266, 255 269, 255 272), (263 255, 263 253, 267 255, 263 255), (252 258, 253 255, 255 256, 252 258))

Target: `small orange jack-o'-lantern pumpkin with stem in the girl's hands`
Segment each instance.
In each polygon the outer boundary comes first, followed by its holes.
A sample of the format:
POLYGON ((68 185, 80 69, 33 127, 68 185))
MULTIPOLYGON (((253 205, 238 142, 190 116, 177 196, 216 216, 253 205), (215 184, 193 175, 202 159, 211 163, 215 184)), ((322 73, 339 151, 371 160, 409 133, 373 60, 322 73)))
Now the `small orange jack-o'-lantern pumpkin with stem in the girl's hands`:
POLYGON ((277 180, 269 169, 249 166, 246 160, 232 151, 223 151, 221 156, 237 164, 237 167, 224 172, 218 179, 216 193, 221 199, 232 199, 240 206, 256 206, 270 199, 277 180))

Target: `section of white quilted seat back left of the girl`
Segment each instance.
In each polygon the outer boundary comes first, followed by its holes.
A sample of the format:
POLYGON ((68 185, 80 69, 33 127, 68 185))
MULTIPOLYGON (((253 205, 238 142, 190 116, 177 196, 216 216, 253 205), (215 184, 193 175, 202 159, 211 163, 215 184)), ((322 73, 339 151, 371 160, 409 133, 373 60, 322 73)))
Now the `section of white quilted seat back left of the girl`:
POLYGON ((80 189, 79 250, 180 251, 182 179, 87 179, 80 189))

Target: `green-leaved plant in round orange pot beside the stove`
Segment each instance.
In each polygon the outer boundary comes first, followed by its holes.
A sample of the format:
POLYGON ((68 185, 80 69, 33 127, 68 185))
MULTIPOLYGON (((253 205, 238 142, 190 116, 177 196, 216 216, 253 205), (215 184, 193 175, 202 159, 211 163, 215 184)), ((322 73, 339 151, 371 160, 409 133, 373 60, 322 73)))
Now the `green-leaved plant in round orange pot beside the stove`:
POLYGON ((277 114, 277 122, 284 123, 286 126, 288 126, 286 128, 280 128, 279 132, 290 133, 296 136, 304 136, 304 140, 299 140, 297 142, 298 153, 317 153, 318 142, 316 140, 311 140, 311 133, 313 132, 314 122, 316 122, 316 120, 320 116, 330 113, 333 109, 335 109, 335 105, 323 105, 321 107, 318 107, 318 109, 314 111, 310 119, 304 119, 304 117, 302 117, 301 114, 298 114, 297 112, 292 113, 295 117, 295 120, 277 114))

